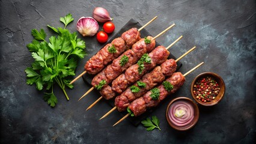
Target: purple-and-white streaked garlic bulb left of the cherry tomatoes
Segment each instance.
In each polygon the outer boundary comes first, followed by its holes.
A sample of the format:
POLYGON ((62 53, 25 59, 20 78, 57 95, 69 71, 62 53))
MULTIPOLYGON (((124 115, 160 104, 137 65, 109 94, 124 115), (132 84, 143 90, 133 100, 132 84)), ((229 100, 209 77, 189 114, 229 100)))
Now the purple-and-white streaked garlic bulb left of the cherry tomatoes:
POLYGON ((99 30, 99 23, 93 17, 81 17, 76 23, 76 30, 84 37, 92 37, 99 30))

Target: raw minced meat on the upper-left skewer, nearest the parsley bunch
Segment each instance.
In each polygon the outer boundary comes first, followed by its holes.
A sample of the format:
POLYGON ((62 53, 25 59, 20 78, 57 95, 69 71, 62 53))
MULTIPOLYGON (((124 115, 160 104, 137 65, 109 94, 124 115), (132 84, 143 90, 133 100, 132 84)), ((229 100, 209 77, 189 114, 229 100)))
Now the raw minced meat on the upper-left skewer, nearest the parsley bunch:
POLYGON ((113 59, 117 58, 125 50, 132 47, 136 41, 139 41, 141 39, 140 36, 141 34, 136 28, 132 28, 124 32, 121 37, 115 38, 110 44, 106 44, 106 46, 99 50, 96 55, 90 58, 85 64, 85 70, 89 74, 99 73, 106 64, 113 61, 113 59), (108 52, 108 47, 111 47, 112 45, 117 50, 116 53, 108 52))

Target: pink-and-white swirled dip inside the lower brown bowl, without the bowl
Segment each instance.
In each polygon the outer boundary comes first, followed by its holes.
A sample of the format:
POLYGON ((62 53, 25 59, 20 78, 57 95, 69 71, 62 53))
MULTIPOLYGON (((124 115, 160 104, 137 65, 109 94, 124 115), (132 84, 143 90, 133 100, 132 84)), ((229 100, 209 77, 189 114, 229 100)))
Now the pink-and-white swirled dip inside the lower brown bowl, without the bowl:
POLYGON ((184 127, 194 119, 194 112, 195 110, 191 103, 179 100, 171 104, 168 116, 172 124, 184 127))

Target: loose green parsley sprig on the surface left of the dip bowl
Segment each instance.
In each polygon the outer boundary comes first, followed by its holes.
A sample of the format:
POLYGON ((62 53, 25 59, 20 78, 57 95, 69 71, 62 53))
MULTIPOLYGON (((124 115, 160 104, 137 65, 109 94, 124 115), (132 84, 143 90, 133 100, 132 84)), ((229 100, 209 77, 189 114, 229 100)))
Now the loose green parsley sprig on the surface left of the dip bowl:
POLYGON ((150 118, 147 118, 141 121, 141 123, 144 125, 144 127, 147 127, 147 131, 152 131, 154 130, 154 128, 158 128, 159 130, 161 130, 159 127, 159 119, 157 119, 156 116, 152 116, 152 120, 150 118))

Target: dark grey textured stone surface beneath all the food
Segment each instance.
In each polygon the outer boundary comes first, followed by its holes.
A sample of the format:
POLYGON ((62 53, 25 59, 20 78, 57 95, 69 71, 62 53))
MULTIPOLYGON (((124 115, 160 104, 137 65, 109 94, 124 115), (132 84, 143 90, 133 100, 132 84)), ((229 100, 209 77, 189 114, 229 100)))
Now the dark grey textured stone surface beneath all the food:
MULTIPOLYGON (((255 98, 255 1, 0 1, 0 101, 1 143, 254 143, 256 137, 255 98), (146 23, 152 35, 168 25, 176 26, 157 42, 168 46, 180 35, 184 38, 170 52, 178 57, 197 46, 181 59, 181 73, 204 61, 205 64, 186 77, 175 97, 189 97, 192 79, 204 71, 218 73, 226 84, 224 99, 216 106, 200 106, 200 119, 189 131, 175 131, 166 122, 162 103, 152 115, 160 120, 162 131, 148 132, 142 125, 123 121, 112 127, 120 114, 113 112, 99 121, 110 107, 100 101, 93 109, 85 109, 99 96, 97 91, 78 101, 90 86, 82 79, 74 89, 67 89, 67 101, 55 86, 58 104, 49 107, 43 92, 26 85, 25 68, 33 61, 26 44, 32 41, 31 29, 61 26, 59 17, 73 14, 75 22, 68 26, 76 31, 81 16, 91 16, 94 7, 105 7, 114 17, 117 32, 131 18, 146 23)), ((113 34, 112 34, 113 35, 113 34)), ((112 36, 111 35, 111 36, 112 36)), ((110 36, 110 37, 111 37, 110 36)), ((81 35, 79 35, 81 37, 81 35)), ((81 37, 82 38, 82 37, 81 37)), ((96 37, 83 38, 87 44, 85 59, 79 61, 78 72, 100 49, 96 37)), ((150 116, 152 116, 150 115, 150 116)))

